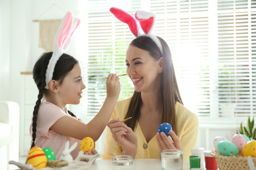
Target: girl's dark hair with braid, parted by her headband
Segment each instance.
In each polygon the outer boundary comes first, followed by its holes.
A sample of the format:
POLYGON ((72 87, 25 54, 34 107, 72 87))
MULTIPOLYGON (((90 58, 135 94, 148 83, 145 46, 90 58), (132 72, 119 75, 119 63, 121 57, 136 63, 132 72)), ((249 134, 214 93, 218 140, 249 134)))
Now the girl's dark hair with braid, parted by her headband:
MULTIPOLYGON (((46 52, 43 53, 40 58, 37 60, 33 67, 33 80, 37 85, 39 93, 37 95, 37 101, 35 103, 35 107, 33 109, 33 118, 32 118, 32 145, 35 146, 35 137, 36 137, 36 127, 37 127, 37 114, 39 110, 39 106, 41 104, 41 99, 43 99, 43 95, 47 95, 49 92, 45 89, 46 82, 45 82, 45 73, 48 66, 48 63, 53 56, 53 52, 46 52)), ((72 71, 75 64, 77 64, 77 59, 73 58, 68 54, 62 54, 58 59, 53 72, 53 80, 60 80, 60 84, 62 84, 65 76, 68 72, 72 71)), ((75 116, 72 112, 68 110, 68 113, 71 116, 75 116)))

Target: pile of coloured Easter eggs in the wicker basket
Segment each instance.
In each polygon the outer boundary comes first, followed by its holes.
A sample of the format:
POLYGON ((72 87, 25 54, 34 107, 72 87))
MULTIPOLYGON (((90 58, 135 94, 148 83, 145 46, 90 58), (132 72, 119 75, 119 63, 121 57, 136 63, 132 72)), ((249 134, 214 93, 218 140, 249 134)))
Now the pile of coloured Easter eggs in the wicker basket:
POLYGON ((231 142, 224 137, 217 136, 213 141, 213 146, 223 156, 256 157, 256 141, 250 141, 245 135, 236 134, 231 142))

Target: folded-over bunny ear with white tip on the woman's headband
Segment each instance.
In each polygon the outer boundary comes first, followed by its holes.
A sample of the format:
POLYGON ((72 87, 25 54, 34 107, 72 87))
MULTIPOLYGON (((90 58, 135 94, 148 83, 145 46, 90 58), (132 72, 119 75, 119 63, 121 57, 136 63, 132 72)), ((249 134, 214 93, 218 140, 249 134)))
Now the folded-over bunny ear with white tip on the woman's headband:
POLYGON ((152 12, 145 12, 138 10, 135 14, 135 18, 140 22, 140 27, 146 34, 150 34, 155 25, 156 15, 152 12))

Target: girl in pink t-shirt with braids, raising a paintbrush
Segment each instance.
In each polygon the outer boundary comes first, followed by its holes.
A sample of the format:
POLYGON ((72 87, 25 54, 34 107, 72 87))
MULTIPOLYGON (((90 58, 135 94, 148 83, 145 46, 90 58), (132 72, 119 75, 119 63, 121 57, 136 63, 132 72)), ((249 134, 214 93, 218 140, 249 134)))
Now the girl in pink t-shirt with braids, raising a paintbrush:
MULTIPOLYGON (((78 61, 62 54, 58 59, 53 80, 49 82, 49 89, 45 88, 45 72, 53 52, 47 52, 38 59, 33 67, 33 79, 39 90, 38 99, 33 110, 33 122, 30 128, 32 146, 49 147, 59 160, 66 141, 70 146, 78 142, 77 148, 71 152, 75 159, 79 143, 84 137, 91 137, 97 141, 106 127, 120 92, 119 78, 116 74, 108 75, 106 80, 107 97, 102 109, 88 124, 84 124, 72 112, 67 110, 68 104, 77 105, 82 97, 83 84, 81 67, 78 61), (45 97, 45 101, 41 100, 45 97)), ((92 150, 96 154, 96 150, 92 150)))

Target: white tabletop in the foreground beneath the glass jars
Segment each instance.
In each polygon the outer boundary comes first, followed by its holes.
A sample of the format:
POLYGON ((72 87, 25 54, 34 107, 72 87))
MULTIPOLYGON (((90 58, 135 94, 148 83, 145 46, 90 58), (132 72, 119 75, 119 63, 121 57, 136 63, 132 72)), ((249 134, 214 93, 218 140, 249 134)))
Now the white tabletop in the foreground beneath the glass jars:
MULTIPOLYGON (((161 160, 156 159, 135 159, 133 165, 120 166, 113 165, 112 160, 96 160, 93 165, 89 168, 90 170, 161 170, 161 160)), ((183 161, 183 170, 189 170, 189 161, 183 161)))

